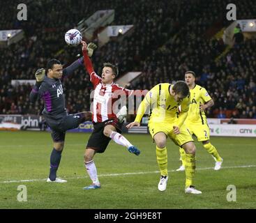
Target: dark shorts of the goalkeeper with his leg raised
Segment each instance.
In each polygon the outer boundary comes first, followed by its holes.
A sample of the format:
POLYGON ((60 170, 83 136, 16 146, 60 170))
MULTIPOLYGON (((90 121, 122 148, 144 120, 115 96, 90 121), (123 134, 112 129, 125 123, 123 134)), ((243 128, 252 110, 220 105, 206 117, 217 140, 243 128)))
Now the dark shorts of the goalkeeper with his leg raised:
POLYGON ((77 128, 81 123, 86 121, 84 113, 68 114, 63 116, 60 121, 45 117, 47 125, 52 130, 52 140, 55 142, 65 141, 66 130, 77 128))

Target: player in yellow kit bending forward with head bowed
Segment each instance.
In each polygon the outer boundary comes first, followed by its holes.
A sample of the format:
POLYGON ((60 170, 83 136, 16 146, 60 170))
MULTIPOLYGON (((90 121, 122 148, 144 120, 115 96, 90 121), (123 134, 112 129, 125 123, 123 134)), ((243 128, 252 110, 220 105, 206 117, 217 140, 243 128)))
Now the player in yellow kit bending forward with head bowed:
POLYGON ((156 160, 160 169, 160 181, 158 190, 166 189, 168 180, 167 171, 167 137, 186 151, 186 185, 185 192, 190 194, 202 194, 193 186, 195 175, 195 144, 188 129, 183 125, 190 105, 190 93, 186 82, 179 81, 175 84, 158 84, 153 87, 141 102, 137 116, 127 128, 140 126, 142 116, 146 109, 150 109, 149 132, 156 142, 156 160), (181 113, 177 116, 178 107, 181 105, 181 113))

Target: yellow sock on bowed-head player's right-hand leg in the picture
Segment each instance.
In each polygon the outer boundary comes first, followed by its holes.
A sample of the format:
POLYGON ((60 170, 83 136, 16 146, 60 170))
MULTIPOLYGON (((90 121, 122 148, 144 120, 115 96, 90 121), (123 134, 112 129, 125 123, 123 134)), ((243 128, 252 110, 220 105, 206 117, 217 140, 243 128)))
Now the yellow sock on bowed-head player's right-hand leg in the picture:
POLYGON ((186 174, 186 185, 189 187, 193 185, 193 178, 195 175, 195 155, 186 153, 186 162, 185 162, 185 174, 186 174))

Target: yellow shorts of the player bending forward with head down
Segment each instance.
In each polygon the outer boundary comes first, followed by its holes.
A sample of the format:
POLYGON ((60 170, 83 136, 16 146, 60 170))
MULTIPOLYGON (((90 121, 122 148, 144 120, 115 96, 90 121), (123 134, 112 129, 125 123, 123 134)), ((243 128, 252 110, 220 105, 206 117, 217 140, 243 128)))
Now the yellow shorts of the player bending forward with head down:
POLYGON ((179 131, 180 134, 173 133, 173 125, 174 123, 149 123, 149 132, 151 137, 153 138, 154 135, 158 132, 163 132, 166 134, 167 137, 170 137, 174 144, 177 146, 182 146, 186 144, 188 141, 194 141, 193 137, 191 136, 190 132, 186 128, 186 125, 182 125, 179 131))

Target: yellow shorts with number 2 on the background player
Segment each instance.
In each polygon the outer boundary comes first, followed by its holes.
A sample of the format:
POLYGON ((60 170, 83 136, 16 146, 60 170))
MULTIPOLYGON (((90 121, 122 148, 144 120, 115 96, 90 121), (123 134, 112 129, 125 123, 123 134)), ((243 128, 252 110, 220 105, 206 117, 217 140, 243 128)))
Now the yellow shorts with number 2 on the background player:
POLYGON ((186 123, 190 134, 195 134, 198 141, 206 141, 210 139, 210 130, 208 124, 202 123, 186 123))

